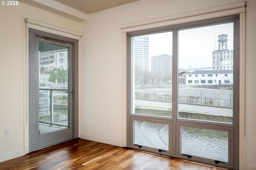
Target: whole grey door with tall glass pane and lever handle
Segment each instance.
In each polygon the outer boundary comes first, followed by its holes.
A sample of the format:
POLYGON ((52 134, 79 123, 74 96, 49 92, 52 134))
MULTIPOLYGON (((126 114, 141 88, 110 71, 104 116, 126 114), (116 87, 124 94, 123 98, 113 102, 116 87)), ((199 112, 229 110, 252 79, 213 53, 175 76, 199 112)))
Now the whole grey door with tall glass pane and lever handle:
POLYGON ((30 151, 74 138, 73 44, 30 33, 30 151))

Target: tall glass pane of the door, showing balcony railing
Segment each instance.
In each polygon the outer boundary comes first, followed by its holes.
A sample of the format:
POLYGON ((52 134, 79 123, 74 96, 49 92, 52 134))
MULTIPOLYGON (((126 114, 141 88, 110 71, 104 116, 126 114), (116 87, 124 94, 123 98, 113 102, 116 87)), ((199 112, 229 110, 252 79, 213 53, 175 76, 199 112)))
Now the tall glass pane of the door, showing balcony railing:
POLYGON ((68 128, 68 47, 39 42, 40 134, 68 128))

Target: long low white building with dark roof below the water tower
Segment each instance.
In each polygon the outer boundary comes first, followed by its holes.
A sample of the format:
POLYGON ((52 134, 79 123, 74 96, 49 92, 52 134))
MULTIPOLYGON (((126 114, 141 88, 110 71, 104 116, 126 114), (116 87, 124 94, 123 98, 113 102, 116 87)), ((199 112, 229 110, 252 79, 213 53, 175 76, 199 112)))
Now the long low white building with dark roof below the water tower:
POLYGON ((186 73, 187 85, 230 85, 233 70, 196 70, 186 73))

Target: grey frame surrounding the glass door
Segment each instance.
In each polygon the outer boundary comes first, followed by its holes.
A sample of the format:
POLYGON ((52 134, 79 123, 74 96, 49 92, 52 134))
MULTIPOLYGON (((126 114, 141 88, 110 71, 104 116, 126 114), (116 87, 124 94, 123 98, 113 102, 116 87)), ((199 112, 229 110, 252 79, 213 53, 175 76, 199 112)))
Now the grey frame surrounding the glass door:
MULTIPOLYGON (((34 67, 33 64, 30 64, 30 60, 29 60, 29 53, 31 53, 33 50, 34 47, 32 47, 32 49, 29 49, 29 44, 34 44, 34 36, 30 36, 29 37, 29 34, 37 34, 37 35, 40 35, 40 36, 44 36, 44 37, 51 37, 51 38, 54 38, 56 40, 61 40, 61 41, 64 41, 64 42, 68 42, 68 43, 71 43, 72 44, 72 48, 73 48, 73 61, 72 63, 72 67, 73 67, 73 75, 70 75, 72 76, 72 83, 73 83, 73 91, 74 91, 74 97, 73 97, 73 138, 78 138, 78 40, 75 40, 75 39, 72 39, 72 38, 68 38, 68 37, 64 37, 64 36, 59 36, 59 35, 56 35, 56 34, 52 34, 52 33, 48 33, 48 32, 43 32, 43 31, 39 31, 39 30, 34 30, 34 29, 31 29, 29 28, 28 30, 26 30, 27 32, 27 42, 26 42, 26 45, 27 45, 27 61, 26 61, 26 69, 27 69, 27 80, 26 80, 26 83, 28 83, 27 85, 27 95, 28 95, 28 99, 27 99, 27 110, 28 110, 28 113, 26 113, 26 124, 28 124, 28 152, 31 152, 31 151, 34 151, 36 150, 36 145, 35 145, 35 135, 34 135, 34 127, 35 127, 35 122, 33 123, 33 121, 35 120, 35 117, 33 116, 32 114, 32 111, 33 109, 36 109, 34 108, 35 107, 35 103, 33 103, 33 101, 31 101, 31 99, 33 99, 33 96, 29 93, 30 90, 35 90, 34 87, 30 87, 30 82, 33 82, 33 78, 34 77, 31 77, 29 71, 30 71, 30 66, 32 65, 32 67, 34 67)), ((70 90, 70 89, 68 89, 70 90)), ((71 139, 69 139, 71 140, 71 139)), ((62 141, 64 142, 64 141, 62 141)))

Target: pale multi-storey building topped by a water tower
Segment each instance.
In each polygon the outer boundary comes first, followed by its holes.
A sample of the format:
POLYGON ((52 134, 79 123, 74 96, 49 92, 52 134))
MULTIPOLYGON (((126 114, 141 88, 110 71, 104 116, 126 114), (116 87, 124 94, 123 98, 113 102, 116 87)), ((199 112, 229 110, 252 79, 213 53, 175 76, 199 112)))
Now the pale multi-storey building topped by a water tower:
POLYGON ((228 35, 218 36, 218 49, 212 51, 212 70, 233 70, 233 50, 227 46, 228 35))

